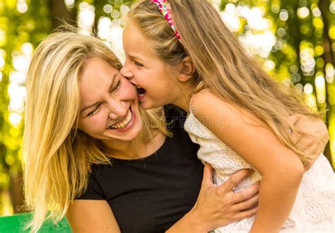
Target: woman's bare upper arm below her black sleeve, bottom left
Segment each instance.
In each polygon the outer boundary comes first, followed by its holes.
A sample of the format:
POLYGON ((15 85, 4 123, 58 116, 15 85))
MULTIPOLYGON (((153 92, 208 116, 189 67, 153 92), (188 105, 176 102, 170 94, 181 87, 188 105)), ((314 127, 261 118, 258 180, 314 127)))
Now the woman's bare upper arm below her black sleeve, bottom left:
POLYGON ((105 200, 75 200, 66 213, 76 232, 121 232, 110 205, 105 200))

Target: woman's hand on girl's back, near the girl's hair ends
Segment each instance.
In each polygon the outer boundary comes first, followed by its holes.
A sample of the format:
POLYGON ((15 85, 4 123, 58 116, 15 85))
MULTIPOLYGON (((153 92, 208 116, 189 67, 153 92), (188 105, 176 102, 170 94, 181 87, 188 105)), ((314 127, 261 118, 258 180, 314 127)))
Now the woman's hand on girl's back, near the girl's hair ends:
MULTIPOLYGON (((300 135, 298 133, 293 135, 293 141, 295 142, 297 149, 304 151, 306 154, 313 155, 314 161, 317 160, 319 155, 323 153, 324 148, 329 141, 326 124, 324 124, 321 119, 312 119, 301 114, 290 116, 288 121, 291 126, 298 127, 298 129, 306 133, 305 135, 300 135), (319 140, 308 135, 315 136, 315 138, 319 140)), ((305 170, 310 169, 313 162, 305 167, 305 170)))

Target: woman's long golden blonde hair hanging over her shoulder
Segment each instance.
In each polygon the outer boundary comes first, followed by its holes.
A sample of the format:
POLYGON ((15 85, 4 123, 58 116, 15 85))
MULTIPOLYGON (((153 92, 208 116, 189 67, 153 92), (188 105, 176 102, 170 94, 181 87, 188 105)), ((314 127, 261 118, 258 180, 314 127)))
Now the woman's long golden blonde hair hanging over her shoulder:
MULTIPOLYGON (((80 95, 78 75, 87 59, 99 57, 118 70, 117 57, 100 40, 76 32, 55 32, 37 47, 27 77, 23 136, 25 203, 33 211, 28 227, 61 220, 71 201, 87 186, 92 163, 108 163, 101 141, 76 130, 80 95)), ((161 109, 140 109, 138 143, 167 133, 161 109)))

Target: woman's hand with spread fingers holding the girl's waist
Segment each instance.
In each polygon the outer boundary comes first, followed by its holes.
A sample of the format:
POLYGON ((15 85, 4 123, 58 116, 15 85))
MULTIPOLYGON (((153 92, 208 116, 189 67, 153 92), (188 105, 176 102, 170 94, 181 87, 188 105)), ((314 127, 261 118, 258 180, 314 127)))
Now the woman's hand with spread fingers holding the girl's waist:
POLYGON ((224 184, 216 186, 213 184, 212 168, 206 164, 198 200, 189 213, 194 224, 208 231, 254 215, 259 199, 259 182, 239 193, 233 192, 234 186, 250 172, 252 170, 240 170, 224 184))

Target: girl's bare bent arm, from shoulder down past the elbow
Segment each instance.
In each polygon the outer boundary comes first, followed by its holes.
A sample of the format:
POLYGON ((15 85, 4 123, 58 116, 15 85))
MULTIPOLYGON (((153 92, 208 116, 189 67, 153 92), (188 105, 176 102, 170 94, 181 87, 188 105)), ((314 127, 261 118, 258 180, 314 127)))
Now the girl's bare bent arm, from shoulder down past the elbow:
POLYGON ((210 90, 194 95, 192 109, 199 121, 263 177, 251 232, 278 232, 293 207, 304 172, 299 157, 263 121, 210 90))

